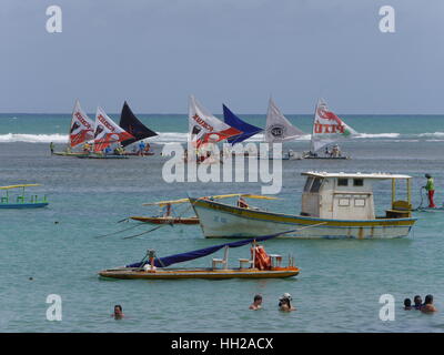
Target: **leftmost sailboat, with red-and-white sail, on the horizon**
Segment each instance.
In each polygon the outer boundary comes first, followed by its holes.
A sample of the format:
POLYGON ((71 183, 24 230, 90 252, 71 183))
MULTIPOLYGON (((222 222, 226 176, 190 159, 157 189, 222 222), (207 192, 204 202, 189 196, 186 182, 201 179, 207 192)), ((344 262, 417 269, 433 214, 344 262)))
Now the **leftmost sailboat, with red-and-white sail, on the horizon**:
POLYGON ((67 150, 54 152, 51 143, 51 154, 61 156, 88 155, 88 152, 73 152, 72 149, 92 139, 94 139, 94 122, 83 112, 79 100, 75 100, 67 150))

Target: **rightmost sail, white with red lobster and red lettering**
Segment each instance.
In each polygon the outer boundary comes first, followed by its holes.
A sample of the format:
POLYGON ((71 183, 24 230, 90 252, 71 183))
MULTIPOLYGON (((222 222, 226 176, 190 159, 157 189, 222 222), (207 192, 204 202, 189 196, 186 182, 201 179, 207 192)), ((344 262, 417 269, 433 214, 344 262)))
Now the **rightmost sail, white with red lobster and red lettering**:
POLYGON ((325 101, 320 99, 314 112, 311 152, 314 153, 327 144, 349 139, 353 134, 357 132, 330 111, 325 101))

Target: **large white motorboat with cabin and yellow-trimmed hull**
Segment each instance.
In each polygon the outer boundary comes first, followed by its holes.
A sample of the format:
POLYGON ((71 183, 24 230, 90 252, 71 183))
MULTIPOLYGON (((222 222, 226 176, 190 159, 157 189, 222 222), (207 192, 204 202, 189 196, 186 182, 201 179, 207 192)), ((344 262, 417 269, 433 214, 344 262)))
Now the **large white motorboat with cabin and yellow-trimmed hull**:
POLYGON ((205 237, 249 237, 286 232, 294 239, 394 239, 408 235, 412 217, 411 176, 389 173, 305 172, 299 215, 273 213, 192 199, 205 237), (392 206, 376 216, 372 183, 392 182, 392 206), (396 200, 396 182, 406 181, 407 199, 396 200))

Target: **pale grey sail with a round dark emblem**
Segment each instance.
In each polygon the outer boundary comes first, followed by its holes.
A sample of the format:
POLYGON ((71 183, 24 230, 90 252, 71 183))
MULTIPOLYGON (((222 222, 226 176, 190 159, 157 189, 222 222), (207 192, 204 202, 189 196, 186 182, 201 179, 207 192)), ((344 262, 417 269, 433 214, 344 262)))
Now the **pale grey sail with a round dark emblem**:
POLYGON ((270 98, 269 111, 266 113, 265 142, 279 143, 292 141, 303 134, 304 133, 300 129, 291 124, 278 109, 273 99, 270 98))

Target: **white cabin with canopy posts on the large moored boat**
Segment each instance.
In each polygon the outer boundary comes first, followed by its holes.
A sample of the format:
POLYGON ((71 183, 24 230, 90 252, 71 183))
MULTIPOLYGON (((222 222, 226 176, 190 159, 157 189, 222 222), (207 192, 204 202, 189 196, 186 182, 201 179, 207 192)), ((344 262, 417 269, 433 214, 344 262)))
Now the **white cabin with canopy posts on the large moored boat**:
POLYGON ((385 219, 411 217, 411 176, 389 173, 304 172, 301 215, 331 220, 375 220, 373 182, 392 181, 392 206, 385 219), (406 201, 396 200, 396 181, 406 181, 406 201))

